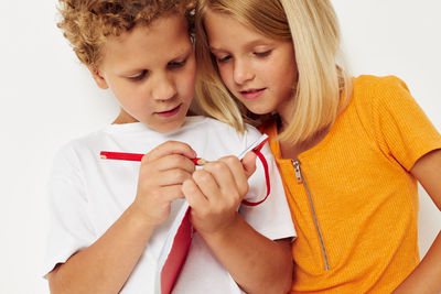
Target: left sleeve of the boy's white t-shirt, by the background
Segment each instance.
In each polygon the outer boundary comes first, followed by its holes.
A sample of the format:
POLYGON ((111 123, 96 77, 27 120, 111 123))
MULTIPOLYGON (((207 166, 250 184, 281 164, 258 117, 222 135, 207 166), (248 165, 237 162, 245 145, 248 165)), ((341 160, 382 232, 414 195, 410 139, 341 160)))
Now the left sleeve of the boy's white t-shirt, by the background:
POLYGON ((47 190, 51 217, 43 275, 95 241, 85 185, 72 149, 66 146, 56 154, 47 190))

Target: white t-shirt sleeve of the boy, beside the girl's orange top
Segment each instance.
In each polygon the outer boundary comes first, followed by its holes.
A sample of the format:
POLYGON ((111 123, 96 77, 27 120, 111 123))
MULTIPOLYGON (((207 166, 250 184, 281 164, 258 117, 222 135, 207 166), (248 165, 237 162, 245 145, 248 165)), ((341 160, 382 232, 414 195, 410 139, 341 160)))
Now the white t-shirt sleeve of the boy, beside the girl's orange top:
MULTIPOLYGON (((259 137, 259 131, 254 128, 248 128, 246 139, 248 144, 256 141, 259 137)), ((283 185, 268 143, 263 146, 261 153, 268 163, 270 194, 263 203, 257 206, 241 205, 239 213, 256 231, 271 240, 295 237, 295 230, 284 195, 283 185)), ((248 179, 249 190, 245 196, 245 199, 251 203, 259 202, 267 195, 263 166, 259 159, 257 159, 256 164, 257 170, 248 179)))

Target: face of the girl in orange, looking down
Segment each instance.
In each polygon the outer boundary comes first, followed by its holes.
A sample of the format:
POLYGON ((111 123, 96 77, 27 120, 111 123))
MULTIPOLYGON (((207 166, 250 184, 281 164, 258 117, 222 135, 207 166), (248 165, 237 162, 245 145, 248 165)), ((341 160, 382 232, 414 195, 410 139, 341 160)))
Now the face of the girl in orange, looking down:
POLYGON ((228 14, 209 10, 204 25, 229 91, 254 113, 289 116, 298 76, 292 42, 269 39, 228 14))

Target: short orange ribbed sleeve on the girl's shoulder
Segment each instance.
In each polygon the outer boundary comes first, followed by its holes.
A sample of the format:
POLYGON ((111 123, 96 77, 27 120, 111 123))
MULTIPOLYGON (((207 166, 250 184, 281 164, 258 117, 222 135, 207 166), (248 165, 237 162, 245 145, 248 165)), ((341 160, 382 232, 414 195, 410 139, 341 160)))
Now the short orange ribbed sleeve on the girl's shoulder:
POLYGON ((397 77, 378 79, 373 100, 377 141, 383 152, 409 171, 430 151, 441 148, 441 137, 397 77))

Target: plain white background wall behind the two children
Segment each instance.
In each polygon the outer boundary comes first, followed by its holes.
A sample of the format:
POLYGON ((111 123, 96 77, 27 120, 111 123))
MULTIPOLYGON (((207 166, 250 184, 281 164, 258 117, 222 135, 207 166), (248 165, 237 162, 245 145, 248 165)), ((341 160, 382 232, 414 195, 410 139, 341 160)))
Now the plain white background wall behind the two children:
MULTIPOLYGON (((441 130, 441 2, 334 0, 353 73, 397 75, 441 130)), ((55 1, 3 1, 0 18, 0 293, 49 293, 41 277, 45 183, 55 151, 109 123, 97 89, 56 28, 55 1)), ((441 214, 420 192, 420 251, 441 214)))

